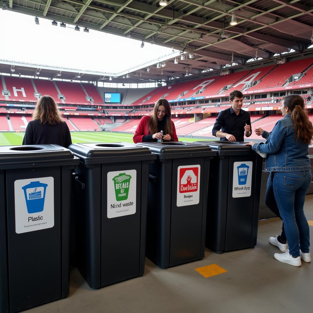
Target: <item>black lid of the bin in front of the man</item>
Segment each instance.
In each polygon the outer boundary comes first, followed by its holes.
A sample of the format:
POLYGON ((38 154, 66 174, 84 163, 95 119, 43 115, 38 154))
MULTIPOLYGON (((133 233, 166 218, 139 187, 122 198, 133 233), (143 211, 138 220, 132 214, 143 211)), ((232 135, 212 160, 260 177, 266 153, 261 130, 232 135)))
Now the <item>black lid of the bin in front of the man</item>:
POLYGON ((244 141, 196 141, 203 145, 209 145, 212 150, 217 152, 219 156, 229 156, 229 155, 247 155, 255 154, 251 146, 246 146, 244 141))

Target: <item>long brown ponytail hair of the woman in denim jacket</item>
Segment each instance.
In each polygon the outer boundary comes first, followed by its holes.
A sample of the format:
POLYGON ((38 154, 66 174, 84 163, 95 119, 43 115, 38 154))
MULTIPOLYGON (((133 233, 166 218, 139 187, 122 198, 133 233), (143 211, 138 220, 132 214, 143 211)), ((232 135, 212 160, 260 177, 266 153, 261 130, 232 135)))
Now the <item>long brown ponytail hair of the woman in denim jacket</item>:
POLYGON ((288 95, 283 98, 284 106, 291 112, 296 141, 302 139, 304 144, 310 144, 313 138, 313 126, 305 112, 304 100, 300 95, 288 95))

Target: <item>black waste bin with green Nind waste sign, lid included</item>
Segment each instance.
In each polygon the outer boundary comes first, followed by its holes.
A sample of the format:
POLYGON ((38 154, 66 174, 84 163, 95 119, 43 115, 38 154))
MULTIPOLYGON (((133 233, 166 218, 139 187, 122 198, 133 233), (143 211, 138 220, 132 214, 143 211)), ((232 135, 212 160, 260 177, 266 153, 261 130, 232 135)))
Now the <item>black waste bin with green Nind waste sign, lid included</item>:
POLYGON ((76 262, 91 288, 142 276, 145 266, 148 148, 81 143, 76 169, 76 262), (84 188, 84 189, 82 189, 84 188))

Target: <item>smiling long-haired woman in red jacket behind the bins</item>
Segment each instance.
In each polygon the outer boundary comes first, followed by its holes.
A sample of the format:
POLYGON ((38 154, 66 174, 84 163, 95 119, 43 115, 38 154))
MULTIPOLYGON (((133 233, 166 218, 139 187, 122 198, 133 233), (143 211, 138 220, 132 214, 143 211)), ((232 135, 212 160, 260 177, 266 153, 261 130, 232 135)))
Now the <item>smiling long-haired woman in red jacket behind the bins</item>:
POLYGON ((151 116, 143 116, 137 126, 133 141, 147 142, 157 141, 162 138, 163 141, 178 141, 175 125, 171 119, 171 107, 166 99, 160 99, 154 105, 151 116))

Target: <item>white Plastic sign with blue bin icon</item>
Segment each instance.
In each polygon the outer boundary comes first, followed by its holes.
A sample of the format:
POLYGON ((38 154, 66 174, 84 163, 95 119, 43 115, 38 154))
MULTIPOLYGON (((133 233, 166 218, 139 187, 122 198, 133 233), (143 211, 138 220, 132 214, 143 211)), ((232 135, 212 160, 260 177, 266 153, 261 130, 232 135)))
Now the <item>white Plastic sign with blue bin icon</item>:
POLYGON ((15 232, 27 233, 54 226, 54 178, 14 182, 15 232))

